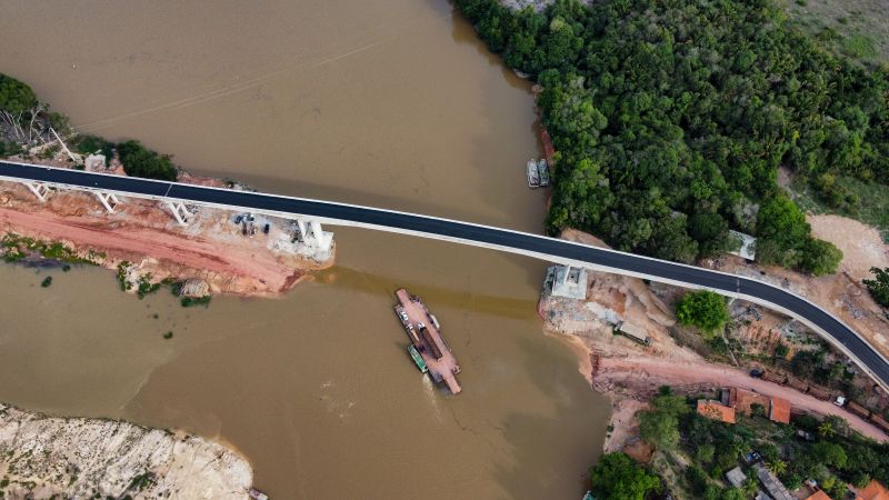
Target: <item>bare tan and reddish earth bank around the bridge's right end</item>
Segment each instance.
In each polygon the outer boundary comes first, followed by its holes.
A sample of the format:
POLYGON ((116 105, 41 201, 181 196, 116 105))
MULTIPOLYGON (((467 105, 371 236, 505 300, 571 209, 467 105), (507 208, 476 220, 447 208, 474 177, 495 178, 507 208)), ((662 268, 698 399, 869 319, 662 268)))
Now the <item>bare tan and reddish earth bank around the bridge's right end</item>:
MULTIPOLYGON (((818 222, 821 237, 829 238, 830 231, 823 229, 823 224, 837 221, 818 222)), ((605 247, 598 238, 576 230, 562 232, 561 238, 605 247)), ((837 242, 840 243, 843 242, 837 242)), ((869 240, 845 242, 868 248, 872 243, 869 240)), ((880 252, 868 254, 873 258, 882 256, 880 252)), ((778 270, 779 274, 772 274, 772 269, 768 276, 763 276, 756 266, 743 263, 740 259, 736 261, 733 258, 706 264, 729 272, 756 276, 758 279, 777 280, 779 283, 787 280, 791 290, 839 314, 878 348, 885 347, 880 342, 885 333, 885 321, 879 313, 879 307, 871 304, 872 300, 866 292, 859 293, 860 286, 856 286, 852 279, 857 274, 856 270, 870 261, 862 262, 860 252, 850 251, 849 256, 848 262, 841 263, 845 272, 821 278, 783 270, 778 270)), ((545 289, 538 312, 543 318, 547 332, 569 339, 579 354, 581 373, 597 392, 611 400, 611 421, 603 444, 606 452, 626 451, 638 458, 650 456, 650 449, 646 450, 646 447, 640 446, 635 414, 646 409, 648 400, 665 384, 671 386, 675 392, 685 394, 712 393, 720 387, 750 389, 789 400, 796 412, 841 417, 852 429, 866 437, 878 441, 889 439, 872 423, 830 401, 816 399, 790 387, 751 378, 748 374, 751 364, 749 359, 732 366, 728 352, 725 361, 720 362, 715 362, 710 356, 702 356, 701 352, 708 352, 707 346, 696 344, 696 341, 700 343, 701 336, 678 326, 670 306, 682 293, 681 289, 647 284, 642 280, 617 274, 588 271, 588 276, 586 300, 556 297, 545 289), (623 336, 613 334, 612 324, 617 321, 626 321, 642 329, 651 338, 650 346, 641 346, 623 336)), ((740 301, 736 302, 731 308, 732 327, 727 330, 729 352, 732 349, 748 349, 748 352, 761 356, 783 342, 790 347, 791 351, 785 354, 790 358, 797 349, 795 341, 805 343, 805 340, 797 338, 803 334, 799 331, 800 326, 767 310, 757 310, 753 317, 748 313, 748 307, 740 301), (755 351, 751 346, 759 350, 755 351)), ((887 396, 869 387, 872 382, 860 374, 853 381, 860 391, 859 398, 868 407, 886 407, 887 396)))

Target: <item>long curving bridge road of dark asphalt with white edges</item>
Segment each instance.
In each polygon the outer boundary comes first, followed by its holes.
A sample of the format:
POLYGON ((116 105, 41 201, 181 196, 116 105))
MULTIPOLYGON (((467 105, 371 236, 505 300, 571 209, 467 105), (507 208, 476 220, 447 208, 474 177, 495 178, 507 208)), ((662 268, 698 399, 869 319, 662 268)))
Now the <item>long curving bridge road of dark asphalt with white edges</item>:
POLYGON ((136 196, 223 206, 236 210, 267 212, 284 217, 303 216, 303 218, 317 219, 324 223, 357 226, 453 241, 520 253, 552 262, 582 266, 683 287, 709 289, 757 302, 797 318, 843 350, 861 368, 870 372, 871 377, 883 388, 889 390, 889 361, 873 350, 855 330, 797 294, 749 278, 508 229, 330 201, 0 161, 0 179, 3 178, 17 181, 50 182, 80 189, 98 189, 124 197, 136 196))

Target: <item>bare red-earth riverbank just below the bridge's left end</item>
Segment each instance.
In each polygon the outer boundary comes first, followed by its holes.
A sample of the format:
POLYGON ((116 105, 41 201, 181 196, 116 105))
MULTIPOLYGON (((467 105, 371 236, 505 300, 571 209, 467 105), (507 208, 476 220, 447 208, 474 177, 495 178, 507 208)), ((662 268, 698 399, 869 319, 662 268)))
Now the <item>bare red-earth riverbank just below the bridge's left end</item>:
MULTIPOLYGON (((110 172, 123 174, 119 168, 110 172)), ((188 174, 180 181, 224 187, 222 181, 188 174)), ((119 271, 121 288, 132 292, 140 286, 144 291, 161 282, 191 281, 200 283, 201 294, 273 297, 333 263, 334 247, 294 241, 291 221, 257 218, 249 230, 236 223, 238 213, 189 210, 191 218, 183 227, 168 209, 148 200, 121 200, 109 213, 86 192, 53 191, 40 202, 24 186, 3 182, 0 233, 60 242, 83 261, 119 271)))

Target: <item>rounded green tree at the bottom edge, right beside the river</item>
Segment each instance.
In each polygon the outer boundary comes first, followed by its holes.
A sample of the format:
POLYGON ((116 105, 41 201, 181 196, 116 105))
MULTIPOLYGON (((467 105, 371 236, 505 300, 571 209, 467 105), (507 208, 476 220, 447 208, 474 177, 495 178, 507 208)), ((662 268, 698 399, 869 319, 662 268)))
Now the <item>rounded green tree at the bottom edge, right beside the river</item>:
POLYGON ((590 469, 590 482, 602 500, 645 500, 649 492, 660 490, 660 479, 622 452, 602 456, 590 469))

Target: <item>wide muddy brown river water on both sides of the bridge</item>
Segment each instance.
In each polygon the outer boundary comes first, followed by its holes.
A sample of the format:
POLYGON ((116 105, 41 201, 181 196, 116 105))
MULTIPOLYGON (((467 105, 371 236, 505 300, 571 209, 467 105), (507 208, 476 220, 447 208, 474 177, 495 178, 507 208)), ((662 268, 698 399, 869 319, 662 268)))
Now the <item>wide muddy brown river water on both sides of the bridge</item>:
MULTIPOLYGON (((261 190, 541 231, 529 87, 446 1, 2 4, 0 71, 80 130, 261 190)), ((333 230, 334 268, 209 309, 0 266, 0 400, 220 438, 278 499, 579 497, 608 404, 541 332, 545 264, 333 230), (407 357, 402 286, 441 320, 459 397, 407 357)))

